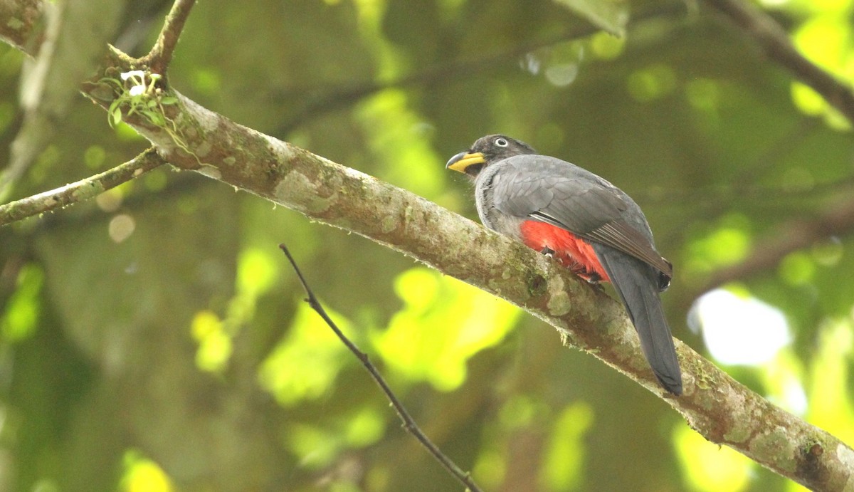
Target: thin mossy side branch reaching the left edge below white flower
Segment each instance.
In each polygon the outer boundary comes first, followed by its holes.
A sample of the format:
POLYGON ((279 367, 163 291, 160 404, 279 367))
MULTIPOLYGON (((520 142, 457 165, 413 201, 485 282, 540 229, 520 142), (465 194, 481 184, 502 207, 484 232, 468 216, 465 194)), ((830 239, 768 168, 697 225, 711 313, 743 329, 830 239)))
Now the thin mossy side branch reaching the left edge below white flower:
POLYGON ((56 208, 67 207, 76 202, 85 202, 163 164, 166 164, 166 161, 163 161, 152 148, 137 155, 131 161, 90 178, 61 186, 56 190, 27 196, 16 202, 5 203, 0 205, 0 226, 6 226, 15 220, 26 219, 33 215, 44 214, 56 208))

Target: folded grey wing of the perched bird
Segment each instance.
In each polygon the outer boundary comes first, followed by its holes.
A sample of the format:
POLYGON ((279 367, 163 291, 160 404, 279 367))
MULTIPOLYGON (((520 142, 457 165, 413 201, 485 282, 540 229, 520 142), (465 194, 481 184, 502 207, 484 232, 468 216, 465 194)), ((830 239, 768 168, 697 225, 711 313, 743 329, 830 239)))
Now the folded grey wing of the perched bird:
POLYGON ((605 179, 544 155, 517 155, 494 166, 500 171, 492 179, 493 202, 501 212, 560 227, 672 276, 640 208, 605 179))

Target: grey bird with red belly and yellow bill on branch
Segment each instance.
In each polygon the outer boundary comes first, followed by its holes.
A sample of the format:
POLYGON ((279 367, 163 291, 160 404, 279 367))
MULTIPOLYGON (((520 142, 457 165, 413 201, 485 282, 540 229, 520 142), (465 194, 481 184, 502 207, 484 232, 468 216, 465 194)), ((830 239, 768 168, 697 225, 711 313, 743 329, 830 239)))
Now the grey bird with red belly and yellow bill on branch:
POLYGON ((582 167, 504 135, 479 138, 447 168, 474 179, 484 226, 551 255, 589 282, 611 282, 658 381, 681 395, 676 348, 658 297, 673 268, 637 203, 582 167))

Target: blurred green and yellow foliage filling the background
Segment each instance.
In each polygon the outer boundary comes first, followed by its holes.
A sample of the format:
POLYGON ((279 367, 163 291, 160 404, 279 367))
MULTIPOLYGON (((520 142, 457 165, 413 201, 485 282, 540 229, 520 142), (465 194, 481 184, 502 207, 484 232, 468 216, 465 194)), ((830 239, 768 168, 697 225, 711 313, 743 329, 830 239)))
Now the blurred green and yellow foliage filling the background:
MULTIPOLYGON (((123 4, 115 43, 142 54, 169 3, 123 4)), ((851 1, 761 5, 851 80, 851 1)), ((851 122, 757 54, 678 0, 208 0, 169 76, 213 111, 470 217, 471 186, 443 164, 483 134, 588 167, 646 211, 676 266, 674 334, 714 357, 714 326, 688 319, 699 286, 854 185, 851 122)), ((24 120, 23 58, 0 46, 3 162, 24 120)), ((145 147, 81 97, 66 103, 16 197, 145 147)), ((506 302, 158 169, 0 230, 0 490, 459 489, 301 302, 283 242, 427 435, 488 489, 798 489, 506 302)), ((791 331, 769 360, 725 368, 851 443, 849 246, 816 237, 725 286, 791 331)))

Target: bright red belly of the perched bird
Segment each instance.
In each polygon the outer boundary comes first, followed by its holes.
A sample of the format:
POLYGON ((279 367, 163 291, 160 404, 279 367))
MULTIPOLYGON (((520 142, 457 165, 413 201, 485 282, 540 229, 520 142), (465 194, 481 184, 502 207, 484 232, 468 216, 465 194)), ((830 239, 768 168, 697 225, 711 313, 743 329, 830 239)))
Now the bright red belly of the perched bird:
POLYGON ((564 267, 582 278, 611 281, 593 246, 570 231, 545 222, 525 220, 522 223, 522 237, 525 246, 529 248, 537 251, 547 248, 553 250, 554 257, 564 267))

